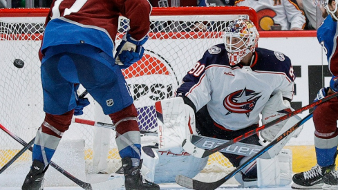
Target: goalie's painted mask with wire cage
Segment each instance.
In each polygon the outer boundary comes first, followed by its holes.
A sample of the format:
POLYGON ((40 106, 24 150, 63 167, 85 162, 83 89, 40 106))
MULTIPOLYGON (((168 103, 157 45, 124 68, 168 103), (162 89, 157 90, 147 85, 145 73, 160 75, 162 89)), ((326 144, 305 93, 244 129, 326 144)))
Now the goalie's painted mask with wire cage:
POLYGON ((249 19, 238 19, 230 21, 225 28, 223 39, 229 64, 234 66, 248 53, 254 53, 259 41, 259 32, 249 19))

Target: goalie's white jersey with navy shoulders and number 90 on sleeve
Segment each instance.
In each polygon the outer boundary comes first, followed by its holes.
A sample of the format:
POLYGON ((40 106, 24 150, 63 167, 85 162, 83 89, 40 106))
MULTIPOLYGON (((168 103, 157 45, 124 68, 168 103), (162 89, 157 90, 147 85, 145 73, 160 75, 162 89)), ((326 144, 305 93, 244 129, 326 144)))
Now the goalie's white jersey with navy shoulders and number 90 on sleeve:
POLYGON ((207 105, 216 124, 236 131, 259 123, 259 113, 271 95, 294 95, 290 59, 283 53, 256 48, 252 66, 229 66, 224 44, 209 48, 184 77, 176 95, 186 96, 198 111, 207 105))

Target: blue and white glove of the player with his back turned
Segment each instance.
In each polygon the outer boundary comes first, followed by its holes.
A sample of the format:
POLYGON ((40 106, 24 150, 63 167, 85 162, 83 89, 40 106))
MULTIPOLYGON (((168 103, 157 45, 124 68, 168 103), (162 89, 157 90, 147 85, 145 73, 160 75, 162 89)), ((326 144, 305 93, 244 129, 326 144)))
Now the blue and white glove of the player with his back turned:
POLYGON ((120 68, 128 68, 131 64, 142 59, 144 48, 142 45, 146 43, 148 37, 144 37, 142 40, 137 41, 129 35, 127 32, 123 36, 122 41, 118 48, 116 48, 115 61, 120 68))

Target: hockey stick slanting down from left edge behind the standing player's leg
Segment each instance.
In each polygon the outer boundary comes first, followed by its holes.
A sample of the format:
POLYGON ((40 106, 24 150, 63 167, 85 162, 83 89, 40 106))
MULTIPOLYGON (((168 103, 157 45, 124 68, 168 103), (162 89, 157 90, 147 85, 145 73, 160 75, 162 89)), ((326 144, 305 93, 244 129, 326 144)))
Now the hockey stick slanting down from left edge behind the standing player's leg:
MULTIPOLYGON (((22 140, 20 137, 18 137, 14 133, 10 132, 2 124, 0 124, 0 128, 3 131, 5 131, 8 135, 10 135, 12 138, 14 138, 17 142, 19 142, 20 144, 22 144, 23 146, 27 146, 28 145, 27 142, 25 142, 24 140, 22 140)), ((28 149, 30 151, 32 151, 32 146, 30 146, 28 149)), ((73 182, 75 182, 77 185, 79 185, 79 187, 82 187, 83 189, 86 189, 86 190, 118 189, 118 188, 122 187, 122 185, 124 184, 124 180, 122 178, 115 178, 113 180, 109 180, 109 181, 106 181, 106 182, 100 182, 100 183, 91 184, 91 183, 83 182, 82 180, 79 180, 79 179, 75 178, 73 175, 71 175, 71 173, 68 173, 67 171, 65 171, 64 169, 62 169, 61 167, 59 167, 57 164, 55 164, 51 160, 50 160, 50 166, 53 167, 53 168, 55 168, 57 171, 59 171, 63 175, 65 175, 68 179, 70 179, 73 182)))

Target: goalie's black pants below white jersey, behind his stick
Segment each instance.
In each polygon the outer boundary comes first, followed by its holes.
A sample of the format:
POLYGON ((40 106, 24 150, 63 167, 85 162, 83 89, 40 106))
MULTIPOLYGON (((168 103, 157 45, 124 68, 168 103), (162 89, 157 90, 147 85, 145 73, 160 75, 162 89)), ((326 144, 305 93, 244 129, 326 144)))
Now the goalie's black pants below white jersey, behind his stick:
MULTIPOLYGON (((248 126, 247 128, 238 131, 229 131, 226 129, 221 129, 220 127, 222 126, 216 124, 214 120, 212 120, 212 117, 210 117, 209 112, 207 111, 207 106, 203 106, 203 108, 200 108, 200 110, 196 113, 196 132, 199 135, 223 140, 233 140, 235 137, 243 135, 247 131, 251 131, 252 129, 259 127, 259 124, 248 126)), ((261 145, 259 144, 259 136, 256 134, 241 140, 241 142, 261 145)), ((235 155, 230 153, 222 154, 229 159, 229 162, 231 162, 234 167, 238 167, 241 160, 244 158, 243 155, 235 155)))

